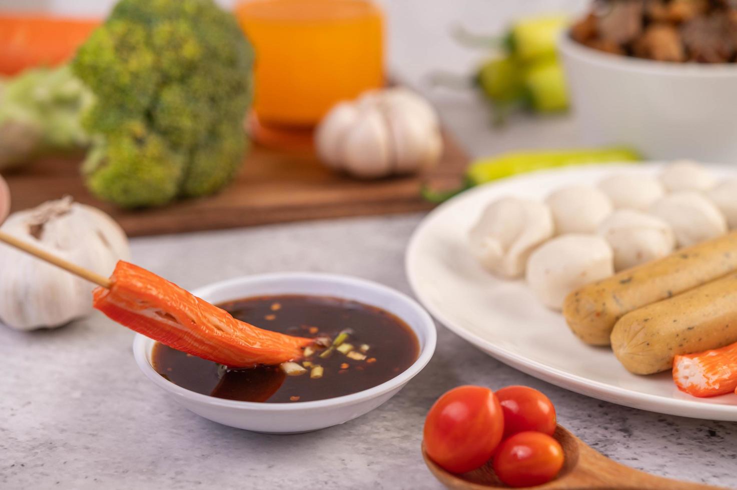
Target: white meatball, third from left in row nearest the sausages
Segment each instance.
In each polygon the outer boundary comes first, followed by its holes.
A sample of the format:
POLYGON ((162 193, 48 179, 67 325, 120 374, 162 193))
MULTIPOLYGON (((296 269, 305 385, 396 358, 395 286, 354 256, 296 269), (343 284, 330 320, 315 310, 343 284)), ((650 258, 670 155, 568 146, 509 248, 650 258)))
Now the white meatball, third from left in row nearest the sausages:
POLYGON ((695 245, 727 233, 727 220, 722 211, 699 192, 667 195, 654 203, 650 212, 671 225, 679 247, 695 245))

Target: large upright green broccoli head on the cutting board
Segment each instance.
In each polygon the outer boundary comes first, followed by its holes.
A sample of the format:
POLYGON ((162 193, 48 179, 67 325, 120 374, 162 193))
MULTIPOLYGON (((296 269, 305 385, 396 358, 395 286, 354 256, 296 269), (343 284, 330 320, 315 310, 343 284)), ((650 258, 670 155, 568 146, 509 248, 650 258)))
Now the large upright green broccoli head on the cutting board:
POLYGON ((83 164, 98 197, 134 208, 209 195, 248 147, 254 54, 212 0, 122 0, 71 66, 94 92, 83 164))

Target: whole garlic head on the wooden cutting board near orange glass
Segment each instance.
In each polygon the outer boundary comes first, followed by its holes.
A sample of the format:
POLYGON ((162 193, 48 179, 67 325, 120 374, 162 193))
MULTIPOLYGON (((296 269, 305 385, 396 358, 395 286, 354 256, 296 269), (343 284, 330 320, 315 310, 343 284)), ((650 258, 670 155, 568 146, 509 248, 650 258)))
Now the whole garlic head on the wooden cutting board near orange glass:
POLYGON ((335 105, 318 126, 315 145, 328 167, 380 178, 433 167, 443 143, 438 116, 425 99, 385 88, 335 105))

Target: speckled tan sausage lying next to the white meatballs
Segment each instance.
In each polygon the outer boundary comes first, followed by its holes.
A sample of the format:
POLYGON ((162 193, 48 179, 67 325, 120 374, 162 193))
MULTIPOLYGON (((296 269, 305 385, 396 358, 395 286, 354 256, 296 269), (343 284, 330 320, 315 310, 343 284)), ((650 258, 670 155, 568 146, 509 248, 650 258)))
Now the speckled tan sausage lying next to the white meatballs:
POLYGON ((565 298, 563 316, 585 343, 607 346, 626 313, 730 272, 737 272, 737 231, 587 284, 565 298))

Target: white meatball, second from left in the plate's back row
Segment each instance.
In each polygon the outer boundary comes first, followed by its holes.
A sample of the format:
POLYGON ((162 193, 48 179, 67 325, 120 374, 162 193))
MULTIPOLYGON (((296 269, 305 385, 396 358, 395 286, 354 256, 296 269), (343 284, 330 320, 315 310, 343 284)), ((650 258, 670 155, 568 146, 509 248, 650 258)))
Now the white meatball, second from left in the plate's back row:
POLYGON ((612 212, 604 192, 593 186, 567 186, 545 201, 553 213, 555 233, 596 233, 598 225, 612 212))

